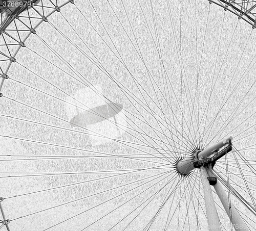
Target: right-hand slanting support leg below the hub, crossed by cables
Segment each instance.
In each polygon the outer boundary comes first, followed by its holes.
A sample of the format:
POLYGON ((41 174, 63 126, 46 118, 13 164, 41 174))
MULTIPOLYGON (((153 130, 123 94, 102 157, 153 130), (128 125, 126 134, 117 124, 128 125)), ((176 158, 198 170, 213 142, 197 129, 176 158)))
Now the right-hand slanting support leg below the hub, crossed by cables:
MULTIPOLYGON (((215 176, 211 171, 207 169, 209 176, 215 176)), ((214 185, 214 189, 218 194, 221 203, 231 221, 231 224, 236 231, 249 231, 248 226, 243 221, 242 217, 238 213, 237 209, 234 208, 233 204, 228 202, 228 196, 224 189, 222 188, 221 183, 217 179, 217 183, 214 185), (231 213, 230 213, 231 212, 231 213)))

